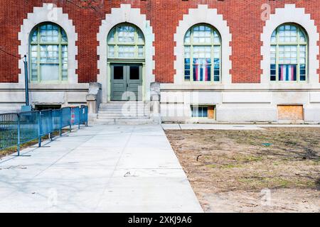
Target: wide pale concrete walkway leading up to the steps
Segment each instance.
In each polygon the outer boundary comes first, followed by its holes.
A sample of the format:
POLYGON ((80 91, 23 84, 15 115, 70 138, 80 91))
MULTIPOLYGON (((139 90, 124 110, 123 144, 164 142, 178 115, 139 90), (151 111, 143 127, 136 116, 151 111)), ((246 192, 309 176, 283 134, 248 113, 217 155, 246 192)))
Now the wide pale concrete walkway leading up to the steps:
POLYGON ((92 126, 0 160, 0 212, 202 212, 161 126, 92 126))

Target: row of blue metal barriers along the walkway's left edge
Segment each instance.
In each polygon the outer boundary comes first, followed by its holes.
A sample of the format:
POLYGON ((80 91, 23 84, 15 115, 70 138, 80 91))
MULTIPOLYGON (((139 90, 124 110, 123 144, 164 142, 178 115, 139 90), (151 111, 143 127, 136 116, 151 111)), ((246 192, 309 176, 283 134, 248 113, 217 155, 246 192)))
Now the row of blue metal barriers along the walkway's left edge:
POLYGON ((84 124, 87 126, 87 106, 65 107, 57 110, 28 111, 13 114, 0 114, 0 150, 20 145, 65 127, 84 124))

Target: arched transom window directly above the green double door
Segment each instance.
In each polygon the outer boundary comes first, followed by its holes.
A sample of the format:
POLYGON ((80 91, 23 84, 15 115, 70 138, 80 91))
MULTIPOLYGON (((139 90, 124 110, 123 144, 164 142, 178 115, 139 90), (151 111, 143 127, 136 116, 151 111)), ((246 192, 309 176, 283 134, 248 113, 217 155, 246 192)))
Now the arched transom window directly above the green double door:
POLYGON ((144 35, 137 27, 122 23, 110 31, 108 38, 108 58, 144 59, 144 35))

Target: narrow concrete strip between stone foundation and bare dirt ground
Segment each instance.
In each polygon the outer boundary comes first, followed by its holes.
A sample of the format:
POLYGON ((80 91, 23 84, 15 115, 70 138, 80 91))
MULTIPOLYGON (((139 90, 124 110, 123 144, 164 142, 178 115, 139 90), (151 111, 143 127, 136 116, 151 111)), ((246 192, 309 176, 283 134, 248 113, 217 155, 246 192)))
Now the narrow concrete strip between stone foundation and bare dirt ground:
POLYGON ((163 123, 164 130, 191 130, 191 129, 207 129, 207 130, 265 130, 264 128, 320 128, 316 124, 205 124, 205 123, 163 123))

